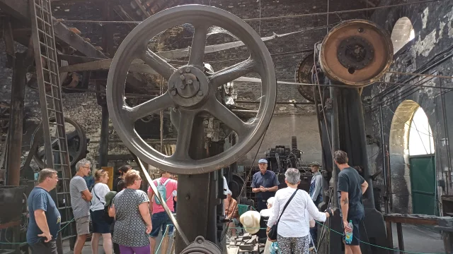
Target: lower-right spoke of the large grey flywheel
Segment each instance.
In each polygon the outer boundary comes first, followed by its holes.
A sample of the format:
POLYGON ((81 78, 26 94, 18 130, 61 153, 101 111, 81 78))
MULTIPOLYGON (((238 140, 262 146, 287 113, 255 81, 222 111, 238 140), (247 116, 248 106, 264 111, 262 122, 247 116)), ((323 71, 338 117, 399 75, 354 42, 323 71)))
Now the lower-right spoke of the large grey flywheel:
POLYGON ((233 131, 236 131, 239 137, 247 135, 247 133, 253 128, 252 124, 244 123, 238 116, 236 116, 236 114, 226 108, 215 97, 212 97, 210 101, 207 102, 206 110, 226 124, 226 126, 233 129, 233 131))

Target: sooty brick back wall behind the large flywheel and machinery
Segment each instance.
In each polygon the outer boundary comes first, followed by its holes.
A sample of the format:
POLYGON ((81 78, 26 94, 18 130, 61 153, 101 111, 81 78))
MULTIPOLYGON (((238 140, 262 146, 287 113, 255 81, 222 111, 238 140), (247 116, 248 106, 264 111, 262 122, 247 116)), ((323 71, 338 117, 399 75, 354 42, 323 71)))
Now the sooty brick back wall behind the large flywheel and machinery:
MULTIPOLYGON (((323 13, 326 11, 340 11, 354 8, 365 8, 366 4, 361 1, 331 1, 329 9, 327 9, 327 3, 323 1, 293 1, 293 0, 262 0, 262 1, 235 1, 235 0, 200 0, 199 4, 206 4, 223 8, 226 11, 234 13, 240 18, 258 18, 258 17, 270 17, 270 16, 289 16, 294 14, 302 13, 323 13)), ((53 3, 52 3, 53 4, 53 3)), ((56 18, 62 18, 64 20, 101 20, 101 6, 96 6, 92 1, 86 1, 85 3, 60 3, 55 2, 52 8, 54 16, 56 18)), ((343 13, 338 15, 329 16, 329 23, 338 23, 340 19, 348 20, 350 18, 365 18, 365 12, 357 13, 343 13)), ((65 23, 65 21, 62 21, 65 23)), ((301 18, 282 18, 273 20, 251 20, 247 21, 251 27, 256 30, 261 37, 266 37, 276 34, 284 34, 287 32, 295 32, 298 30, 306 30, 316 28, 319 26, 326 25, 327 18, 325 15, 321 16, 306 16, 301 18)), ((90 38, 91 42, 95 46, 101 45, 101 25, 96 23, 65 23, 69 27, 75 27, 81 30, 81 36, 90 38)), ((122 39, 127 35, 130 30, 130 25, 117 24, 115 25, 115 42, 117 46, 120 44, 122 39)), ((181 32, 180 30, 173 31, 171 36, 165 37, 165 40, 159 41, 159 49, 171 49, 171 47, 184 46, 186 42, 190 40, 184 40, 181 35, 191 36, 190 33, 181 32), (179 37, 178 37, 179 36, 179 37), (177 43, 173 43, 180 40, 177 43)), ((273 61, 275 65, 275 71, 277 74, 277 80, 282 81, 294 81, 294 73, 297 68, 297 64, 302 60, 306 53, 300 52, 304 49, 312 49, 314 43, 319 42, 326 35, 326 28, 309 30, 306 32, 299 32, 294 35, 288 35, 280 37, 275 40, 266 42, 269 51, 273 54, 273 61)), ((209 43, 221 43, 231 41, 231 37, 220 34, 213 35, 208 39, 209 43)), ((185 45, 184 47, 187 47, 185 45)), ((1 44, 1 95, 0 100, 9 102, 11 92, 11 70, 3 68, 6 61, 6 55, 4 51, 4 44, 1 44)), ((216 54, 210 54, 207 56, 207 61, 212 62, 214 70, 219 70, 226 66, 236 63, 236 61, 224 61, 236 58, 244 57, 243 48, 236 48, 226 50, 224 52, 217 52, 216 54), (220 61, 222 60, 222 61, 220 61)), ((256 83, 237 83, 237 89, 239 91, 239 98, 243 100, 255 100, 260 97, 260 90, 256 83), (258 89, 257 89, 258 88, 258 89)), ((94 88, 90 86, 91 91, 83 93, 71 93, 64 94, 64 105, 66 116, 74 119, 81 126, 84 127, 88 138, 91 142, 88 146, 88 159, 94 162, 96 167, 96 161, 98 159, 98 143, 99 135, 101 133, 101 107, 96 104, 96 97, 93 93, 94 88)), ((40 121, 40 107, 38 99, 38 91, 32 90, 29 87, 26 89, 25 99, 25 110, 30 112, 27 114, 25 121, 28 123, 30 129, 34 129, 36 124, 40 121)), ((288 102, 290 99, 294 99, 297 102, 303 102, 304 98, 297 91, 297 87, 294 85, 278 85, 277 101, 288 102)), ((312 106, 298 106, 290 107, 285 104, 278 104, 276 107, 276 117, 270 125, 268 134, 266 135, 265 141, 260 148, 259 155, 264 155, 263 151, 275 145, 290 145, 292 135, 297 136, 299 149, 306 152, 304 158, 307 160, 321 160, 320 145, 319 145, 319 134, 317 133, 316 116, 314 116, 314 109, 312 106), (278 119, 278 120, 277 120, 278 119), (306 156, 306 157, 305 157, 306 156)), ((159 128, 157 123, 150 128, 159 128)), ((125 146, 115 135, 110 124, 109 131, 109 160, 115 167, 117 164, 122 164, 130 159, 125 146), (117 162, 117 164, 116 164, 117 162)), ((150 138, 159 138, 158 136, 151 136, 150 138)), ((30 132, 24 135, 23 155, 28 152, 30 140, 30 132)), ((255 156, 256 149, 251 150, 241 161, 242 164, 251 163, 251 159, 255 156)), ((259 157, 259 156, 258 156, 259 157)))

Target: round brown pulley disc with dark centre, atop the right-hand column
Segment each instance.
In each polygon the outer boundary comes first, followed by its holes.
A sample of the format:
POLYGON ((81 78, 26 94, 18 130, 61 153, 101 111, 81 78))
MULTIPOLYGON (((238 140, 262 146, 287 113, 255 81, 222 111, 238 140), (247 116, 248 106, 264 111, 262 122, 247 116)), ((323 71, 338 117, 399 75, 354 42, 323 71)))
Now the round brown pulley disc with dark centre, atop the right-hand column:
POLYGON ((393 45, 385 30, 368 20, 348 20, 326 35, 319 61, 331 80, 363 87, 389 70, 393 55, 393 45))

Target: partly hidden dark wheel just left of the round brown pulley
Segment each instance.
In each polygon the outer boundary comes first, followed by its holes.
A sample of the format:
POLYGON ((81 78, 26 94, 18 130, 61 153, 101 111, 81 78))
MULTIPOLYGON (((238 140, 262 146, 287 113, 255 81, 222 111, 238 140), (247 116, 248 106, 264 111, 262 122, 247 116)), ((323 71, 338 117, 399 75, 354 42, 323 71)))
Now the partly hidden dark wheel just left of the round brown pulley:
MULTIPOLYGON (((304 59, 297 65, 296 74, 294 79, 297 83, 305 83, 305 84, 312 84, 314 80, 312 80, 312 73, 314 66, 314 53, 307 54, 304 59)), ((316 89, 314 85, 299 85, 297 86, 297 90, 299 93, 305 98, 308 99, 310 102, 314 102, 313 97, 313 90, 316 89)), ((316 89, 316 97, 318 101, 320 101, 318 90, 316 89)))

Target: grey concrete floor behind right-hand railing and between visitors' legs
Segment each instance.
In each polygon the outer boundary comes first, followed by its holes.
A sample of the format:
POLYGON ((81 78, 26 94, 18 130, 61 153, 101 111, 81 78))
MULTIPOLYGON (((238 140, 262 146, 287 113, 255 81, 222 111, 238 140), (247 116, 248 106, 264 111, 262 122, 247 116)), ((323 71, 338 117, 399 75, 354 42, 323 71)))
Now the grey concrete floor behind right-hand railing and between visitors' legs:
MULTIPOLYGON (((393 236, 394 236, 394 248, 398 248, 398 236, 396 234, 396 225, 392 225, 393 236)), ((157 244, 161 241, 162 236, 159 235, 157 238, 157 244)), ((429 229, 422 228, 420 226, 413 226, 408 224, 403 224, 403 240, 404 248, 406 251, 413 251, 417 253, 444 253, 444 243, 440 234, 431 231, 429 229)), ((173 238, 170 238, 170 243, 168 246, 168 251, 166 254, 170 253, 171 243, 173 238)), ((64 253, 69 253, 69 241, 63 243, 64 253)), ((157 248, 157 247, 156 247, 157 248)), ((104 250, 102 248, 102 239, 99 243, 98 253, 103 254, 104 250)), ((398 251, 394 252, 395 254, 398 251)), ((91 242, 85 244, 82 254, 91 254, 91 242)), ((159 251, 157 254, 163 254, 159 251)))

